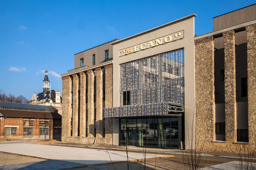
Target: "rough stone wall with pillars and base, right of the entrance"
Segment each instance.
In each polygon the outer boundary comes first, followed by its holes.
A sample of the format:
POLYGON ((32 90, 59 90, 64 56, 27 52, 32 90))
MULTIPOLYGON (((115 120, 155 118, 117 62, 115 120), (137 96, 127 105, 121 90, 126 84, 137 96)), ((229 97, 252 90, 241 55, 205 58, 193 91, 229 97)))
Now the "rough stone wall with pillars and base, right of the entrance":
MULTIPOLYGON (((256 142, 256 24, 246 27, 249 145, 256 142)), ((195 40, 196 145, 204 150, 235 152, 237 142, 236 55, 234 30, 223 32, 225 60, 226 141, 215 141, 214 41, 195 40), (206 134, 206 135, 204 135, 206 134)))

